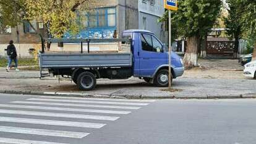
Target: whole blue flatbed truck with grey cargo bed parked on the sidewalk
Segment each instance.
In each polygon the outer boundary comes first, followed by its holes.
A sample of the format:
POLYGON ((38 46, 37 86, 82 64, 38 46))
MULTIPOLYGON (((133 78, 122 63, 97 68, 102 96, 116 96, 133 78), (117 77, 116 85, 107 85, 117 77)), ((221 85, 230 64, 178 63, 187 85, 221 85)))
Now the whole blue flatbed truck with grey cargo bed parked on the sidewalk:
MULTIPOLYGON (((168 87, 169 54, 160 40, 147 30, 124 30, 121 39, 49 39, 50 43, 81 43, 79 53, 39 54, 40 68, 48 69, 49 74, 70 77, 80 90, 93 90, 98 78, 127 79, 138 77, 156 87, 168 87), (92 43, 121 42, 129 45, 124 53, 93 53, 92 43), (88 52, 83 50, 87 44, 88 52)), ((171 81, 182 76, 184 66, 181 57, 171 54, 171 81)), ((42 72, 40 72, 43 77, 42 72)))

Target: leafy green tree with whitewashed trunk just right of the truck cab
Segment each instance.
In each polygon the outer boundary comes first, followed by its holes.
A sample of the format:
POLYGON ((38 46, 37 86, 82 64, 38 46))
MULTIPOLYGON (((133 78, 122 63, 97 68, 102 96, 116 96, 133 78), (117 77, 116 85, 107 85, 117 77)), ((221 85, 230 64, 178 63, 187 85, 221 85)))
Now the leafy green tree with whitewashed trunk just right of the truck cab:
MULTIPOLYGON (((173 12, 177 35, 187 38, 184 65, 197 66, 200 38, 205 38, 220 14, 221 0, 180 0, 179 9, 173 12)), ((167 20, 168 17, 165 19, 167 20)))

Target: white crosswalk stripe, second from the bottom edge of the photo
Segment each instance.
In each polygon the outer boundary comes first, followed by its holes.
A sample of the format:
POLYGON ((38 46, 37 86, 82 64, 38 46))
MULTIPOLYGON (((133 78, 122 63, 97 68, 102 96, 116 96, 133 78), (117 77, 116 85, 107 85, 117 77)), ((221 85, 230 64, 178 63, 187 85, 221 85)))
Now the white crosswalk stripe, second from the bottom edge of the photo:
POLYGON ((0 132, 10 132, 10 133, 22 133, 30 135, 46 135, 52 137, 68 137, 68 138, 83 138, 90 133, 85 132, 69 132, 61 130, 46 130, 46 129, 30 129, 23 127, 4 127, 0 126, 0 132))

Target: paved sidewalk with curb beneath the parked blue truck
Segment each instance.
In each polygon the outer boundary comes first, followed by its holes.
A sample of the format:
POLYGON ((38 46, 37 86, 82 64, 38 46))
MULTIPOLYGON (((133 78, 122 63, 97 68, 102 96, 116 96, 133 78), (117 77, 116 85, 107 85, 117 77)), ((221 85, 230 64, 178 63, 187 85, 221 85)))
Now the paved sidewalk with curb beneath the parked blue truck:
POLYGON ((80 91, 70 80, 46 77, 38 71, 6 72, 0 69, 0 92, 37 95, 72 95, 111 98, 255 98, 256 80, 192 78, 188 75, 173 82, 174 92, 153 87, 139 78, 129 80, 100 79, 93 91, 80 91))

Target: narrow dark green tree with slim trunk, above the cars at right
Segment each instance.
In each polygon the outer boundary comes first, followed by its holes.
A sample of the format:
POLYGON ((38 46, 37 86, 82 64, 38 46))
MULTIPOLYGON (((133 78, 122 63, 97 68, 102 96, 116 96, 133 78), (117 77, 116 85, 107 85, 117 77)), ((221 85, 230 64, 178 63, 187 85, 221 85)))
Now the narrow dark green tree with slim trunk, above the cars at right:
POLYGON ((235 39, 234 44, 234 54, 233 58, 237 58, 239 40, 242 38, 244 32, 244 3, 241 0, 228 0, 228 17, 224 17, 224 23, 226 25, 226 34, 229 36, 229 39, 235 39))

